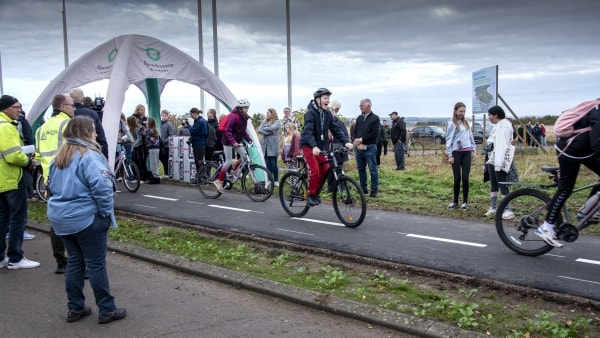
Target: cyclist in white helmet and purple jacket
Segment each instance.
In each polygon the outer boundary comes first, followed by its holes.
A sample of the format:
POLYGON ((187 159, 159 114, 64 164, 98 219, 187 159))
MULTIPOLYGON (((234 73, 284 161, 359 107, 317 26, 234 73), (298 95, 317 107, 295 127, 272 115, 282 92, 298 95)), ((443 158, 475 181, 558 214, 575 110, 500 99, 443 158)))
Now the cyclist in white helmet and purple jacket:
MULTIPOLYGON (((223 151, 225 152, 225 163, 219 172, 219 178, 214 182, 217 190, 220 193, 225 192, 223 188, 223 181, 227 175, 227 170, 231 166, 233 160, 233 149, 240 155, 240 158, 246 157, 246 148, 244 148, 242 141, 246 140, 248 143, 252 143, 252 139, 246 128, 248 126, 248 110, 250 109, 250 102, 246 99, 238 100, 236 106, 233 108, 230 114, 233 114, 227 120, 225 131, 221 137, 223 143, 223 151)), ((239 162, 238 162, 239 163, 239 162)))

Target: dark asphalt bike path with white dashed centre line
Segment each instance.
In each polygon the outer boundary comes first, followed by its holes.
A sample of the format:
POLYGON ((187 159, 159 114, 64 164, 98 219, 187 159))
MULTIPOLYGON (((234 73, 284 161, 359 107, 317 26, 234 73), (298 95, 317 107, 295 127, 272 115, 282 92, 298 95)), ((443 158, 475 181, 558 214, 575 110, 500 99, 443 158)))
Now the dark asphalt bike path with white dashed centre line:
POLYGON ((135 194, 122 190, 115 199, 118 210, 600 300, 598 236, 582 235, 534 258, 506 248, 486 221, 368 209, 364 223, 350 229, 327 203, 302 218, 290 217, 277 188, 265 202, 235 191, 206 199, 191 185, 143 185, 135 194))

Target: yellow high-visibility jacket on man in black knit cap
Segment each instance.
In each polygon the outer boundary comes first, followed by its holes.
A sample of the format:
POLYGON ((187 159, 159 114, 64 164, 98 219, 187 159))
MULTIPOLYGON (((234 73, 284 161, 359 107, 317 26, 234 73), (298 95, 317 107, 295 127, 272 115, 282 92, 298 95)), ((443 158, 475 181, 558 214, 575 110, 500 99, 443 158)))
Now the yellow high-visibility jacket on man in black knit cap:
POLYGON ((31 159, 22 147, 17 125, 0 112, 0 193, 18 189, 23 170, 31 165, 31 159))

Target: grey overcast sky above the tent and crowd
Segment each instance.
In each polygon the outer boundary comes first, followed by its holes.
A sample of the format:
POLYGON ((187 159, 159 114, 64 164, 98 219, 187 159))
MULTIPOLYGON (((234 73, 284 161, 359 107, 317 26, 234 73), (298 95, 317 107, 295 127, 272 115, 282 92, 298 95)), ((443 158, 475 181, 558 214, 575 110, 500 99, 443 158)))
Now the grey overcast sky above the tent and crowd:
MULTIPOLYGON (((598 0, 291 0, 292 108, 318 87, 347 117, 360 99, 387 117, 451 116, 472 106, 472 73, 499 66, 499 93, 518 115, 558 115, 600 97, 598 0)), ((203 0, 204 65, 213 66, 212 1, 203 0)), ((27 111, 64 69, 61 0, 1 0, 4 94, 27 111)), ((125 34, 147 35, 198 59, 196 0, 66 0, 69 60, 125 34)), ((288 103, 285 0, 217 0, 219 76, 250 113, 288 103)), ((84 86, 106 95, 106 82, 84 86)), ((123 111, 145 103, 132 86, 123 111)), ((172 81, 162 108, 199 106, 172 81)), ((208 97, 205 108, 214 106, 208 97)))

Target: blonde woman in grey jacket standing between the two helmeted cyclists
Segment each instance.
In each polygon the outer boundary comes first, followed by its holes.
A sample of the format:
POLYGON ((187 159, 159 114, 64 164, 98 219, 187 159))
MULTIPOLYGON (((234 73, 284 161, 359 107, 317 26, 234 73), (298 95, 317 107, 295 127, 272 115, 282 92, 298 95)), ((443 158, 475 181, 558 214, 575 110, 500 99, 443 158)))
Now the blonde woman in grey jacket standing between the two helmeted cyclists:
POLYGON ((277 167, 277 156, 279 155, 279 129, 281 122, 277 111, 273 108, 267 109, 267 116, 261 122, 257 132, 263 136, 261 146, 265 155, 267 169, 273 174, 275 186, 279 185, 279 168, 277 167))

